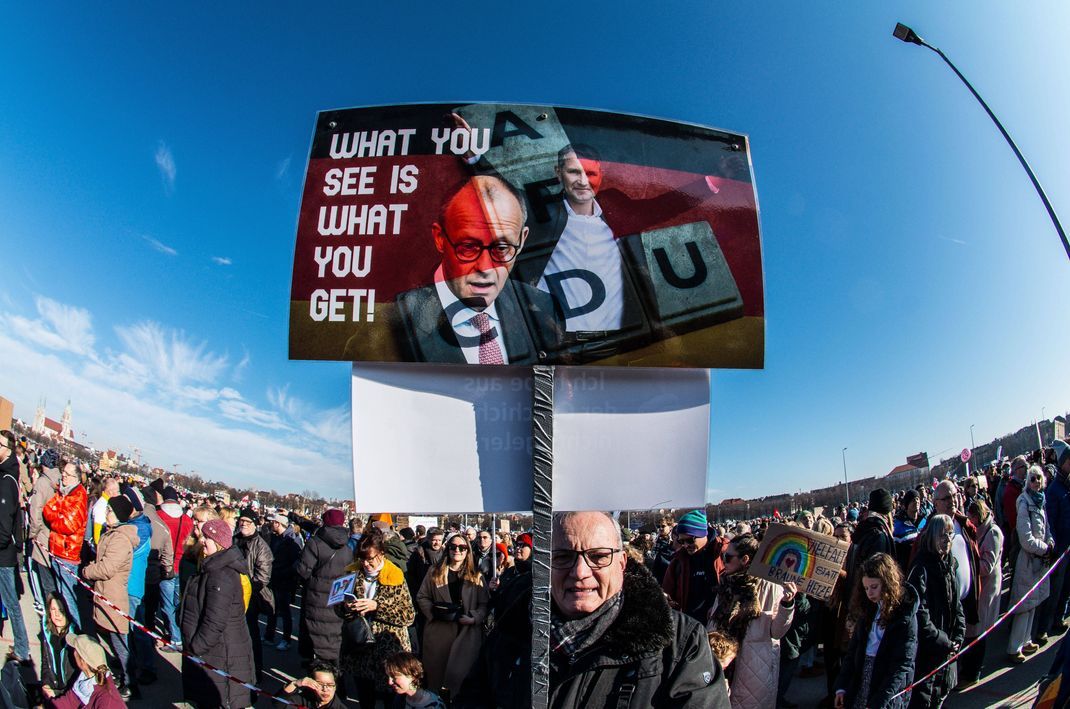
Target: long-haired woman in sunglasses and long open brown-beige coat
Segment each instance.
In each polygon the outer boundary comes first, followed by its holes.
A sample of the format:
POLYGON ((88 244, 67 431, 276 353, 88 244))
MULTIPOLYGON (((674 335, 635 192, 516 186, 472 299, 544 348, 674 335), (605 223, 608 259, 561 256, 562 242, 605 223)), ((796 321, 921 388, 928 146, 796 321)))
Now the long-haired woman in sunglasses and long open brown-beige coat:
POLYGON ((423 646, 427 688, 439 692, 445 687, 456 696, 479 657, 488 597, 469 540, 453 534, 445 550, 424 577, 416 603, 428 621, 423 646))

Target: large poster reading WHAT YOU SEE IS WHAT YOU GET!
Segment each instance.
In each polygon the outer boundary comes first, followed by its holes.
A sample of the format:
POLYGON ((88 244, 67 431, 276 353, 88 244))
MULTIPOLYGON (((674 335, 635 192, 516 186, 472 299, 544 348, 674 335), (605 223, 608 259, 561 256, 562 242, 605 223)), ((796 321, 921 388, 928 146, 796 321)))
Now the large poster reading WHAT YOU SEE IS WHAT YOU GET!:
POLYGON ((761 368, 746 136, 552 106, 321 112, 290 357, 761 368))

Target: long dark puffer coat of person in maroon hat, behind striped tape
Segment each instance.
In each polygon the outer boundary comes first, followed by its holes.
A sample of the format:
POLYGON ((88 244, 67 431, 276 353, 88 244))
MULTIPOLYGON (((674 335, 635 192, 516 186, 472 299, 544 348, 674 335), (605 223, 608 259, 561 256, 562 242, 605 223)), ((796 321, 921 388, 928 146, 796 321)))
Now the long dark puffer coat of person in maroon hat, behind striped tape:
MULTIPOLYGON (((245 625, 240 574, 248 573, 242 550, 230 546, 209 556, 186 582, 182 596, 185 649, 246 682, 254 680, 253 642, 245 625)), ((182 658, 182 693, 199 707, 247 707, 249 691, 182 658)))

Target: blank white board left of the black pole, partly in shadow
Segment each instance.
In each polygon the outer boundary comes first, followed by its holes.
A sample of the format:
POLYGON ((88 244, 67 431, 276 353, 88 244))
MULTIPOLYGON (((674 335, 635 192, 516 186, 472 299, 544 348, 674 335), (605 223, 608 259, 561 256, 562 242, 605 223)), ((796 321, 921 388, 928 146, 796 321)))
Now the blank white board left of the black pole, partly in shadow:
POLYGON ((357 512, 532 508, 532 369, 353 365, 357 512))

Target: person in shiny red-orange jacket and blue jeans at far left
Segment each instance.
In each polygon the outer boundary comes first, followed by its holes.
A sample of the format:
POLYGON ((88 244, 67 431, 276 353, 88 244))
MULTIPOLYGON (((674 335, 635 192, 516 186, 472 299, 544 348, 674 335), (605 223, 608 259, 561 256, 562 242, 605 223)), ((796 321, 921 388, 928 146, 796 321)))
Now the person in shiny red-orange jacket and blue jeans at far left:
POLYGON ((81 561, 81 543, 86 538, 86 520, 89 517, 89 495, 81 485, 78 466, 74 461, 60 460, 60 487, 41 511, 48 527, 48 554, 52 557, 56 585, 71 613, 71 622, 81 632, 78 613, 78 564, 81 561))

